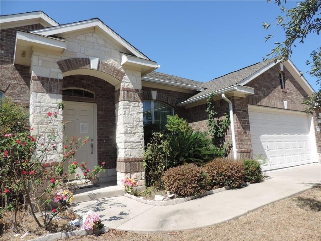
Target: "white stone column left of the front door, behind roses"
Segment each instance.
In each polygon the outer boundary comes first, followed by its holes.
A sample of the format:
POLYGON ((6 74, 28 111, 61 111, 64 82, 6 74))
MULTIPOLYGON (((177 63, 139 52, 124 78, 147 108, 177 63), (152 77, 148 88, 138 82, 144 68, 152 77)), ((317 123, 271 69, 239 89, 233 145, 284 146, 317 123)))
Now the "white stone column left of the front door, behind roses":
POLYGON ((63 153, 62 110, 57 108, 57 103, 62 102, 62 74, 55 59, 45 56, 45 53, 34 51, 31 58, 30 126, 33 128, 31 134, 42 134, 39 149, 43 148, 41 143, 48 143, 52 130, 58 135, 56 141, 51 142, 57 150, 46 156, 47 165, 56 165, 63 153), (47 128, 48 112, 58 112, 58 117, 47 128))

